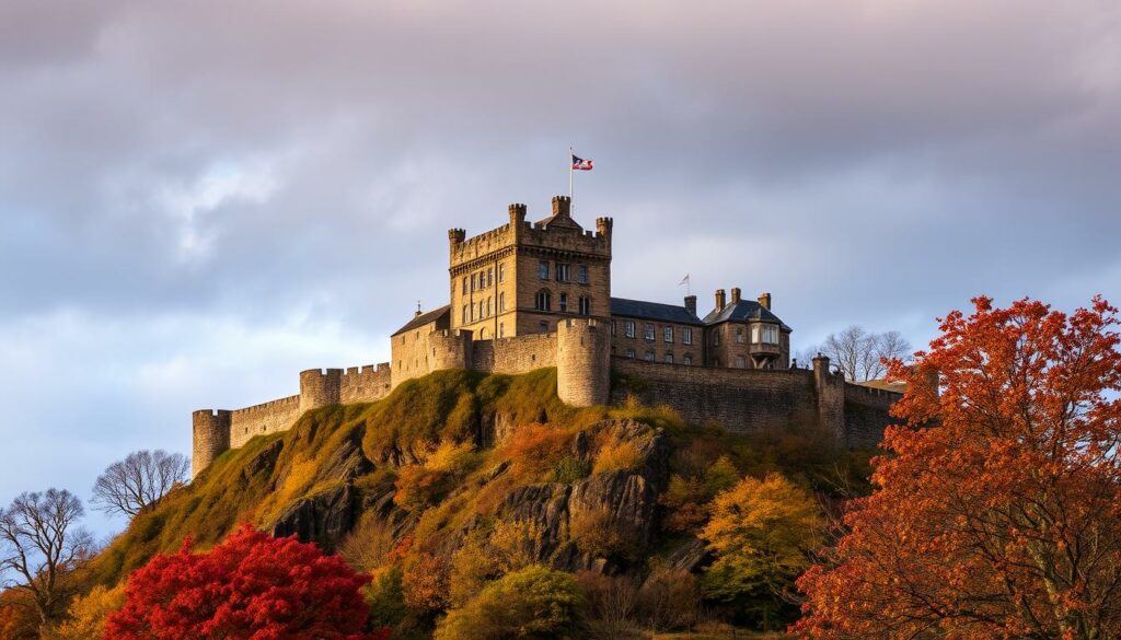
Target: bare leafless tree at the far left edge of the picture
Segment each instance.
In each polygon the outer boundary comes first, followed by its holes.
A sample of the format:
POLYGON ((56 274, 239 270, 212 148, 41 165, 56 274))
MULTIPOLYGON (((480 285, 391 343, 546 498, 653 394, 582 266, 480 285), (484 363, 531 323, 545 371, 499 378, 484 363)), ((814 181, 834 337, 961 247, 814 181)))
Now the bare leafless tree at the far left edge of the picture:
POLYGON ((30 593, 41 625, 62 615, 66 578, 89 556, 91 537, 75 527, 82 514, 82 501, 57 489, 21 493, 0 509, 0 575, 10 572, 4 586, 30 593))

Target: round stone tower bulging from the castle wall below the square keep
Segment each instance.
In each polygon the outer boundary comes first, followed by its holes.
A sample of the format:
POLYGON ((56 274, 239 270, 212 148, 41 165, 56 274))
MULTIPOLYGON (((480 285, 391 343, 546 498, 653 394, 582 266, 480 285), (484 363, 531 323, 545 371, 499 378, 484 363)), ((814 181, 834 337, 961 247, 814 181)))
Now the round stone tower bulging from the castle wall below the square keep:
POLYGON ((595 318, 557 324, 557 396, 573 407, 606 405, 611 392, 611 332, 595 318))

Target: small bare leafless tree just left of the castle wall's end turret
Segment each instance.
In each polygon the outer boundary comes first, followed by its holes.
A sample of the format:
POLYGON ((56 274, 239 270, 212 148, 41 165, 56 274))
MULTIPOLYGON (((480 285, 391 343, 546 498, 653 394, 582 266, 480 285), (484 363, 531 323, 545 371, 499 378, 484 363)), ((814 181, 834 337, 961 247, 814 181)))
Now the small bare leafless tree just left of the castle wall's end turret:
POLYGON ((92 502, 99 511, 133 517, 186 482, 191 463, 183 454, 163 449, 132 452, 98 476, 92 502))

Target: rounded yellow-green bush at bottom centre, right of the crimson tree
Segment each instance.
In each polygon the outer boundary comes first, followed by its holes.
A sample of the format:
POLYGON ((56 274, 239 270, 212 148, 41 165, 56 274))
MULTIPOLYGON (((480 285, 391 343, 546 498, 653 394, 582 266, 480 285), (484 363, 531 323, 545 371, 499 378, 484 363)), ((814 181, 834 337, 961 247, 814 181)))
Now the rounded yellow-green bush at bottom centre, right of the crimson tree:
POLYGON ((452 610, 436 640, 567 640, 582 637, 584 599, 573 576, 529 566, 452 610))

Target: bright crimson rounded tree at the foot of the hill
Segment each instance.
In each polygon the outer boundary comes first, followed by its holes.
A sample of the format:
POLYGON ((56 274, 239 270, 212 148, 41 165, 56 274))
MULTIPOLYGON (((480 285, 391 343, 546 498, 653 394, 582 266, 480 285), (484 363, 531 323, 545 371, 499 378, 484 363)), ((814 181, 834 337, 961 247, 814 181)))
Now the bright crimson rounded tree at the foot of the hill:
POLYGON ((314 545, 250 525, 209 553, 189 540, 129 576, 124 607, 105 640, 385 640, 363 632, 369 576, 314 545))

